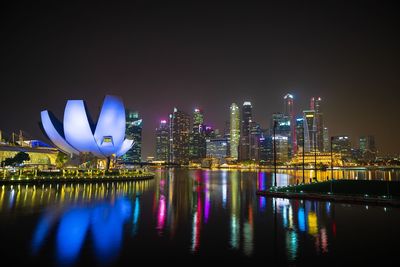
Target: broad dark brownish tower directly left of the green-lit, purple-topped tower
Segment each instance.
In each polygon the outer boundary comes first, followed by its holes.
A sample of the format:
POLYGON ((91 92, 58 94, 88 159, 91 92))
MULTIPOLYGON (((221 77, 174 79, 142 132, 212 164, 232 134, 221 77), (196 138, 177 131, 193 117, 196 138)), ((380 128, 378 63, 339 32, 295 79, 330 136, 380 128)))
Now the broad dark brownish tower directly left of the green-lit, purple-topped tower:
POLYGON ((172 162, 187 164, 189 162, 190 117, 185 112, 174 108, 174 112, 171 114, 170 118, 172 162))

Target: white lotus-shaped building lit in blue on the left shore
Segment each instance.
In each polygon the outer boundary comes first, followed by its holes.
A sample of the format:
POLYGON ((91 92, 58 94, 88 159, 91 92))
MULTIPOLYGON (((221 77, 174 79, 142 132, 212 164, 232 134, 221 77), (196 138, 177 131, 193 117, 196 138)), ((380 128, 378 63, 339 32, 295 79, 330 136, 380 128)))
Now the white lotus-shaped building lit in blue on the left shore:
POLYGON ((55 116, 41 112, 43 130, 61 151, 72 155, 92 153, 99 158, 122 156, 133 145, 125 139, 125 107, 122 99, 107 95, 100 115, 93 124, 83 100, 68 100, 61 124, 55 116))

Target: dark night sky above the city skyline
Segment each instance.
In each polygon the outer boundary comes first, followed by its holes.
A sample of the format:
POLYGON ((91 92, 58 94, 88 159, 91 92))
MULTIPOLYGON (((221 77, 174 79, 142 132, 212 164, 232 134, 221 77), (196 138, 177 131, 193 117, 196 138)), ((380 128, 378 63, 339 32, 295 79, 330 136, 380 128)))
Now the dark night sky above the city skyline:
POLYGON ((0 6, 5 132, 43 139, 42 109, 62 118, 68 99, 85 99, 97 113, 116 94, 142 114, 146 157, 174 106, 223 128, 229 105, 249 100, 266 127, 292 92, 297 112, 323 98, 330 134, 400 152, 396 1, 58 2, 0 6))

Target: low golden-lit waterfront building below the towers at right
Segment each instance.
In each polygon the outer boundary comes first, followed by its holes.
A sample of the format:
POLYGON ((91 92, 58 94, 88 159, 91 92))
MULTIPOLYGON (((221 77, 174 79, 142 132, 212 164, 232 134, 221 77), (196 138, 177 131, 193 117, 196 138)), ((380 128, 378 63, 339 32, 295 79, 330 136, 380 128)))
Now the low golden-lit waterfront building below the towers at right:
MULTIPOLYGON (((340 153, 333 153, 333 166, 343 166, 343 160, 340 153)), ((315 161, 317 165, 331 165, 331 153, 330 152, 306 152, 304 153, 304 164, 306 165, 314 165, 315 161)), ((296 156, 292 158, 290 161, 290 165, 302 165, 303 164, 303 154, 297 153, 296 156)))

